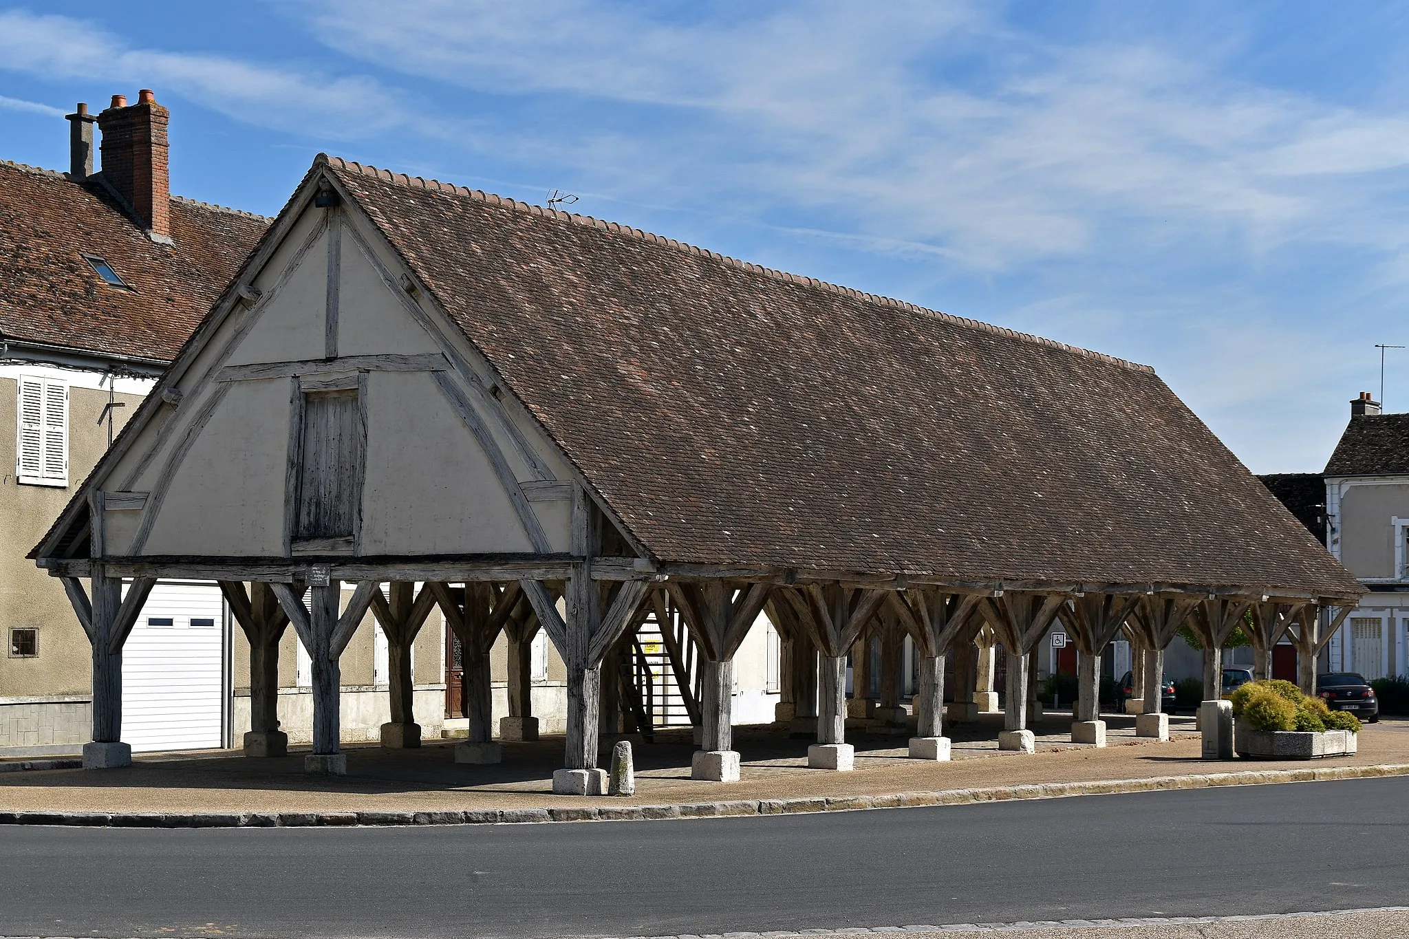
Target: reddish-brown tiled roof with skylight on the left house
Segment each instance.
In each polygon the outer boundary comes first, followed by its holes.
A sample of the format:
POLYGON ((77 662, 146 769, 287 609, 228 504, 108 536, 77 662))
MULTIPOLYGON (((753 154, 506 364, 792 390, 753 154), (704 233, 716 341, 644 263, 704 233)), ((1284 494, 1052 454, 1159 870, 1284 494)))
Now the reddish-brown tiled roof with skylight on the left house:
POLYGON ((172 197, 152 242, 100 182, 0 162, 0 332, 85 352, 170 360, 269 220, 172 197), (111 287, 83 255, 131 286, 111 287))

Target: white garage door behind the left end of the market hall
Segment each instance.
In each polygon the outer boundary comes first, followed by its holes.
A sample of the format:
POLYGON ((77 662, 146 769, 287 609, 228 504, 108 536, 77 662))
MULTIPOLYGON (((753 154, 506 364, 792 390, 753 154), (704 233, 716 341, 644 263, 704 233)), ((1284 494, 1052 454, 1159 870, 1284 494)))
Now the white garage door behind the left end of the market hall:
POLYGON ((220 588, 152 587, 123 648, 123 741, 145 752, 223 746, 224 663, 220 588))

